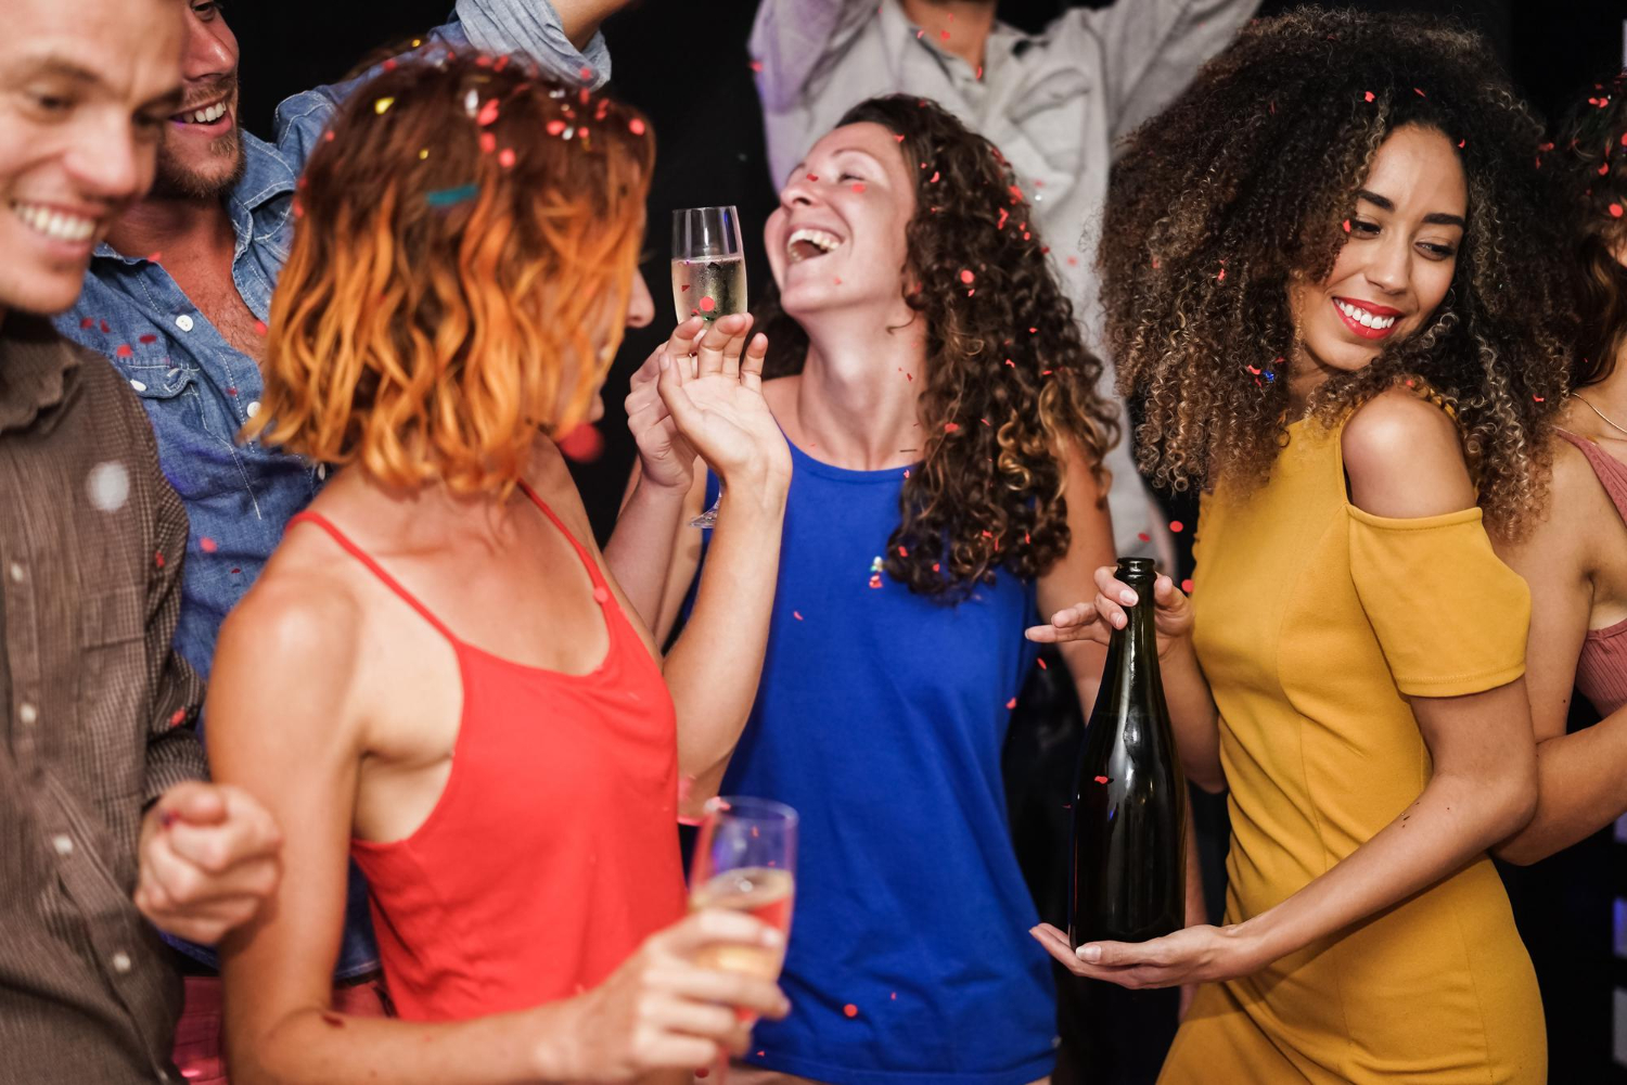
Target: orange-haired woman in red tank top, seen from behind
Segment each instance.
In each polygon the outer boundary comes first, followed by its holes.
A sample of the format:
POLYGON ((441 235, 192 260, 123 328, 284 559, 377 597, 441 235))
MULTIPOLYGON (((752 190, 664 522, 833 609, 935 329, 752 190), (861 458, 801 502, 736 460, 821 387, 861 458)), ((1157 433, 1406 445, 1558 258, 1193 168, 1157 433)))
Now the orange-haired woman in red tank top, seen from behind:
POLYGON ((662 664, 553 441, 652 317, 644 120, 447 57, 386 72, 325 138, 249 433, 338 472, 226 621, 208 708, 216 778, 286 838, 280 891, 223 945, 233 1080, 613 1082, 739 1051, 786 1000, 695 952, 783 939, 683 919, 675 817, 766 638, 789 477, 766 345, 747 317, 680 327, 667 353, 696 358, 641 413, 643 444, 729 493, 662 664), (402 1020, 329 1005, 347 854, 402 1020))

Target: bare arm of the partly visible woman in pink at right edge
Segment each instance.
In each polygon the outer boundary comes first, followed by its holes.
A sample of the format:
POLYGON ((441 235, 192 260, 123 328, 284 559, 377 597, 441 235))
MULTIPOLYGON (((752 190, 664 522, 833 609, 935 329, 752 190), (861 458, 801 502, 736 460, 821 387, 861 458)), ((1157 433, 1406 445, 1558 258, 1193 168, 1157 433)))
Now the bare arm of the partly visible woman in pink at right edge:
POLYGON ((1520 543, 1498 551, 1531 586, 1526 691, 1538 742, 1538 807, 1531 823, 1497 848, 1529 864, 1570 848, 1627 812, 1627 709, 1565 734, 1577 660, 1593 607, 1593 548, 1614 545, 1616 508, 1593 468, 1555 439, 1549 517, 1520 543))

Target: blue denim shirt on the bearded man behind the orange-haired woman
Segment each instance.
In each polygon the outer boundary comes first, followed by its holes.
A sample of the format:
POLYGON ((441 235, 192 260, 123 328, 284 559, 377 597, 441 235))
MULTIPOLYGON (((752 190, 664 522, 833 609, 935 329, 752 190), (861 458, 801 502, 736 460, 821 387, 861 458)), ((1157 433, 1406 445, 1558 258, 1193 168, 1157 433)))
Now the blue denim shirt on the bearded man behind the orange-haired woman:
MULTIPOLYGON (((569 83, 599 86, 610 75, 604 37, 595 34, 578 52, 548 0, 459 0, 452 21, 426 36, 425 49, 436 46, 527 54, 569 83)), ((226 197, 238 239, 231 272, 260 320, 270 319, 272 290, 293 244, 294 184, 306 158, 338 104, 371 75, 286 99, 277 109, 275 143, 242 133, 246 169, 226 197)), ((153 423, 159 467, 192 525, 174 646, 207 678, 221 621, 265 568, 290 517, 316 496, 325 470, 259 441, 238 442, 260 408, 259 364, 226 342, 161 260, 163 254, 125 255, 101 244, 78 304, 57 319, 57 329, 106 355, 153 423)), ((216 963, 203 947, 177 945, 216 963)), ((366 883, 351 865, 337 976, 376 966, 366 883)))

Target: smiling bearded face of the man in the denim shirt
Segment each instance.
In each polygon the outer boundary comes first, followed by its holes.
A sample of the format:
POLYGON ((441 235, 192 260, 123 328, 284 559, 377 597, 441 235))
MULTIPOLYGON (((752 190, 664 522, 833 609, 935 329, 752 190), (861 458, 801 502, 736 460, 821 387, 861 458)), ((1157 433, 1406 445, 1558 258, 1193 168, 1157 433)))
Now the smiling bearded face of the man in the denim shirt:
POLYGON ((218 198, 242 177, 238 37, 215 0, 187 0, 185 98, 164 125, 153 194, 218 198))

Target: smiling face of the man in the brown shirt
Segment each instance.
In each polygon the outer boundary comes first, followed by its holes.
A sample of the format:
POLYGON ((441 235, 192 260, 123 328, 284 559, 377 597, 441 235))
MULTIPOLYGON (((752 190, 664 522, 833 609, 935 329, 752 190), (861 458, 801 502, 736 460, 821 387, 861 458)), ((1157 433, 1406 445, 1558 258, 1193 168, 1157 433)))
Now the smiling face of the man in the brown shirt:
POLYGON ((0 309, 80 294, 181 98, 177 0, 10 0, 0 34, 0 309))

